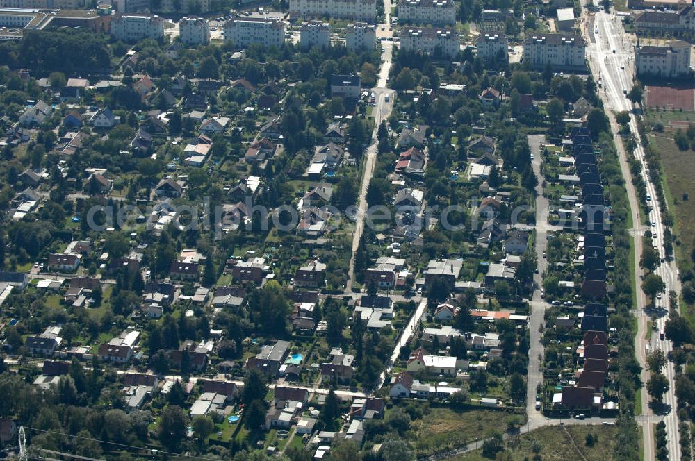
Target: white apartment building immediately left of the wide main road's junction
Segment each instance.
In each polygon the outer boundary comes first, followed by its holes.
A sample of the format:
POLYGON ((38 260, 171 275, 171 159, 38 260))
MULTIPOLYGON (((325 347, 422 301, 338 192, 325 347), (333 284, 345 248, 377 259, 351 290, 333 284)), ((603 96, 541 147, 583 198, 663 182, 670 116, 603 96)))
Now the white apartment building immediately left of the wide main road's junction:
POLYGON ((523 41, 523 62, 533 69, 585 69, 586 52, 581 35, 534 34, 523 41))

